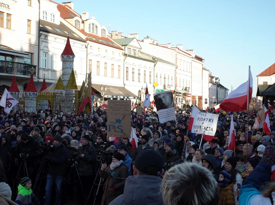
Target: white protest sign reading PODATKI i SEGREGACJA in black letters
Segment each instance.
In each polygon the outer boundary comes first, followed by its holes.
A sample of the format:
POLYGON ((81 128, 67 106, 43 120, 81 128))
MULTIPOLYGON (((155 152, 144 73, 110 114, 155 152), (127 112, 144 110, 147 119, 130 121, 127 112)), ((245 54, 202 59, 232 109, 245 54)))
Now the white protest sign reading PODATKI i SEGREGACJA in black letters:
POLYGON ((199 112, 194 118, 191 132, 214 136, 217 129, 219 114, 199 112))

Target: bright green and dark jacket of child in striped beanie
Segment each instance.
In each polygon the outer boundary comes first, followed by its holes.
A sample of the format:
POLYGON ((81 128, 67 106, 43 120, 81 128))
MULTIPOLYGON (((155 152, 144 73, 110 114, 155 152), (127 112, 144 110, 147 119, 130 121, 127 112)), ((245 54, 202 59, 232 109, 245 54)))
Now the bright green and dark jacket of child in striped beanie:
POLYGON ((34 204, 39 204, 38 198, 33 194, 33 191, 25 186, 19 184, 18 186, 18 194, 15 200, 15 203, 19 205, 31 205, 32 202, 34 204))

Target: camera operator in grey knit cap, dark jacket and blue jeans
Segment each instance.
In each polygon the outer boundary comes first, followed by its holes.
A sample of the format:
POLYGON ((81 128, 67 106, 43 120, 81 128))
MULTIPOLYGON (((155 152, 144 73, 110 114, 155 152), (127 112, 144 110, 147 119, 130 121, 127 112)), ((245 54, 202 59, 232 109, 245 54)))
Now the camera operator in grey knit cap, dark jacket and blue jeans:
POLYGON ((49 161, 50 168, 48 169, 47 183, 46 183, 46 193, 45 193, 45 203, 44 205, 49 205, 51 200, 52 185, 54 181, 58 192, 56 191, 55 203, 59 205, 61 202, 61 186, 63 175, 65 174, 65 161, 67 157, 66 147, 61 143, 62 138, 60 134, 54 136, 53 148, 50 152, 45 155, 45 159, 49 161), (52 171, 52 172, 51 172, 52 171))

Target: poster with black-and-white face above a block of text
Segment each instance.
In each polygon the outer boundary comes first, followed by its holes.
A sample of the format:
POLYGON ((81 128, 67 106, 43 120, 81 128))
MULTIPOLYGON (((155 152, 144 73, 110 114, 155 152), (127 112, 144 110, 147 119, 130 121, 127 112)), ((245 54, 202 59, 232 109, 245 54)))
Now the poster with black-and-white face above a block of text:
POLYGON ((175 105, 172 91, 163 91, 154 94, 155 105, 159 122, 164 123, 169 120, 176 120, 175 105))

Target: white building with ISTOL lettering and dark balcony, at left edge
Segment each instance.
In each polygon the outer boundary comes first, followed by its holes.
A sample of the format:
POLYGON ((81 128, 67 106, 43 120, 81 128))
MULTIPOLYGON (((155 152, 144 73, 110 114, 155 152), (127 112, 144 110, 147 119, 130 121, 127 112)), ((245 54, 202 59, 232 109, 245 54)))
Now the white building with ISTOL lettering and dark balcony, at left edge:
MULTIPOLYGON (((15 74, 23 94, 31 73, 37 73, 39 2, 2 0, 0 4, 0 93, 15 74)), ((36 76, 35 76, 36 78, 36 76)))

